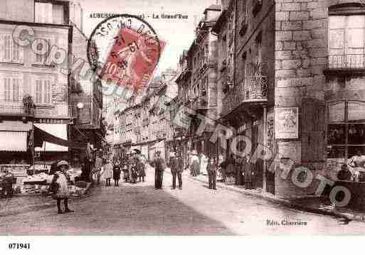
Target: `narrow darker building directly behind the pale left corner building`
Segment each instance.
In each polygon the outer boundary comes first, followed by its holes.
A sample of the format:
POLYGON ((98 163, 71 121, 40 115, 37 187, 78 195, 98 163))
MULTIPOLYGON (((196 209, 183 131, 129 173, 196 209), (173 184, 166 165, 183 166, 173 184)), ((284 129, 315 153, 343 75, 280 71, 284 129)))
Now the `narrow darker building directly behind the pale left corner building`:
MULTIPOLYGON (((102 116, 102 84, 97 77, 90 79, 83 76, 83 70, 90 70, 87 48, 88 37, 81 28, 73 26, 72 55, 74 60, 82 59, 84 62, 70 75, 70 105, 75 117, 73 125, 70 126, 70 136, 73 141, 88 142, 94 148, 100 149, 107 143, 106 126, 102 116)), ((72 154, 73 157, 81 159, 85 156, 83 150, 73 150, 72 154)))

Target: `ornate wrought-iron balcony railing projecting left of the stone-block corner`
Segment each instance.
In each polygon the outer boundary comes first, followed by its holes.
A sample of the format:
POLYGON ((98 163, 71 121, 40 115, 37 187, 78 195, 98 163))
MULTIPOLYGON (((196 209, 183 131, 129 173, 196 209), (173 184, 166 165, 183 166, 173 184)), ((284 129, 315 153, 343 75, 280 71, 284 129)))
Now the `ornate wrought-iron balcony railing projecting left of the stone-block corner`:
POLYGON ((230 89, 223 98, 222 114, 230 113, 243 103, 256 103, 268 101, 268 77, 254 75, 245 79, 244 83, 230 89))

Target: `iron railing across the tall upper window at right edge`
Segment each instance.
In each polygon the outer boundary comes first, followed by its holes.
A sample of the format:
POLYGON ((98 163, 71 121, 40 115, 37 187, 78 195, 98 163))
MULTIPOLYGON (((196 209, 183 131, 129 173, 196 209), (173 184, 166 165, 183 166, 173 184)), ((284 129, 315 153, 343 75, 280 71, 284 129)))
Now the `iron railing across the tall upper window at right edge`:
POLYGON ((327 64, 329 69, 365 69, 365 54, 329 55, 327 64))

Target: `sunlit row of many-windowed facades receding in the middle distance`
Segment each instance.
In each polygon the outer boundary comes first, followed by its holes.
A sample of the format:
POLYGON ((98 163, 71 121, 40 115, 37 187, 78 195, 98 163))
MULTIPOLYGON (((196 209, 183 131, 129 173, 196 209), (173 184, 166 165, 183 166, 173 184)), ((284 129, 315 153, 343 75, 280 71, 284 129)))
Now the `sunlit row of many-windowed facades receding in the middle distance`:
POLYGON ((132 94, 125 107, 117 107, 115 140, 119 142, 115 143, 115 155, 124 157, 135 148, 149 160, 154 158, 156 151, 161 151, 167 158, 169 150, 166 150, 165 140, 169 121, 166 104, 177 95, 175 79, 176 72, 166 70, 158 80, 152 80, 149 87, 132 94))

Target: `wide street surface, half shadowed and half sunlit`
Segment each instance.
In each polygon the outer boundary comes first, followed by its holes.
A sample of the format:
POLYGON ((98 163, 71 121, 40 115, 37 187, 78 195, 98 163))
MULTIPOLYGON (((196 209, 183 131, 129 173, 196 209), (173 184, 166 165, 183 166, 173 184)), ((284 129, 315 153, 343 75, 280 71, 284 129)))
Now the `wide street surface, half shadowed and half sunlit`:
MULTIPOLYGON (((208 190, 187 176, 183 190, 171 190, 170 185, 171 175, 165 173, 164 189, 154 190, 150 169, 145 183, 92 188, 88 197, 71 200, 75 212, 65 215, 56 214, 51 199, 26 197, 38 205, 14 215, 0 211, 0 234, 365 234, 361 222, 341 224, 333 217, 290 210, 250 195, 208 190), (269 226, 268 219, 301 219, 307 225, 269 226)), ((24 197, 13 198, 18 199, 24 197)))

